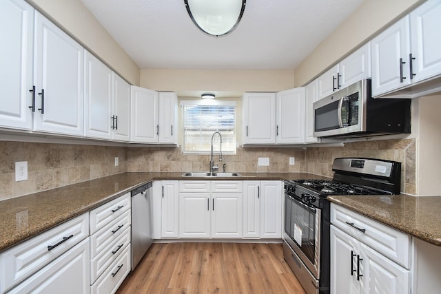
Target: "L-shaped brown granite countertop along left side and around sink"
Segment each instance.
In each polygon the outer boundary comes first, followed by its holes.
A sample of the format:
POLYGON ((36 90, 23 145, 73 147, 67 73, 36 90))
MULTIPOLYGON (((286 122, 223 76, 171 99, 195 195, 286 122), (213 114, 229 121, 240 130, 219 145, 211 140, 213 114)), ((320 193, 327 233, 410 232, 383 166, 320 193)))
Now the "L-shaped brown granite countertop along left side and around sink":
POLYGON ((197 178, 182 173, 125 173, 0 201, 0 251, 123 195, 150 180, 294 180, 305 173, 240 173, 197 178))

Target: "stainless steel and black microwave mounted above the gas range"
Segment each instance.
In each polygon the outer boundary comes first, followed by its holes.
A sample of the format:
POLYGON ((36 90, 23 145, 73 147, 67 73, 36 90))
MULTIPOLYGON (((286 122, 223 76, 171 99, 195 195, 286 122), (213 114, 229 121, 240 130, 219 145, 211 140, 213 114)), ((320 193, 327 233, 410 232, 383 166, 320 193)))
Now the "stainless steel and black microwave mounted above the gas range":
POLYGON ((313 109, 316 137, 411 132, 411 100, 372 98, 369 78, 316 101, 313 109))

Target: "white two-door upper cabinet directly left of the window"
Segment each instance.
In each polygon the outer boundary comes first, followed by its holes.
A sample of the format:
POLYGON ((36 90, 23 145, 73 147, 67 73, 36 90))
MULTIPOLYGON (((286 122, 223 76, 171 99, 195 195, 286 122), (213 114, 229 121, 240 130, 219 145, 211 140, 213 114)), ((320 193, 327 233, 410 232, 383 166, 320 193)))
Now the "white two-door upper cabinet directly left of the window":
POLYGON ((176 144, 178 98, 174 92, 131 87, 130 141, 176 144))

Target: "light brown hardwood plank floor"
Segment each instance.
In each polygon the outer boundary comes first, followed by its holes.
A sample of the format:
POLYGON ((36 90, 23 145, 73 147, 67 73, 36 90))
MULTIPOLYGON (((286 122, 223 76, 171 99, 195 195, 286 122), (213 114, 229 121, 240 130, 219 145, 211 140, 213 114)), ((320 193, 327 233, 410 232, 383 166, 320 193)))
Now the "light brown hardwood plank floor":
POLYGON ((282 244, 154 243, 116 293, 305 291, 283 260, 282 244))

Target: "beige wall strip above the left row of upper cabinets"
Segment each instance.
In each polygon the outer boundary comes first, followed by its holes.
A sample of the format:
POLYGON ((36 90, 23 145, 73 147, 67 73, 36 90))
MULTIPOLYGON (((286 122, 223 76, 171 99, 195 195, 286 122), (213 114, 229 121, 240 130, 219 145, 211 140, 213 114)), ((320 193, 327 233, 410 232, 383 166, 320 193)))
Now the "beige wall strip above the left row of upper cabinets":
POLYGON ((27 0, 67 30, 129 83, 139 85, 139 67, 95 19, 81 0, 27 0))

